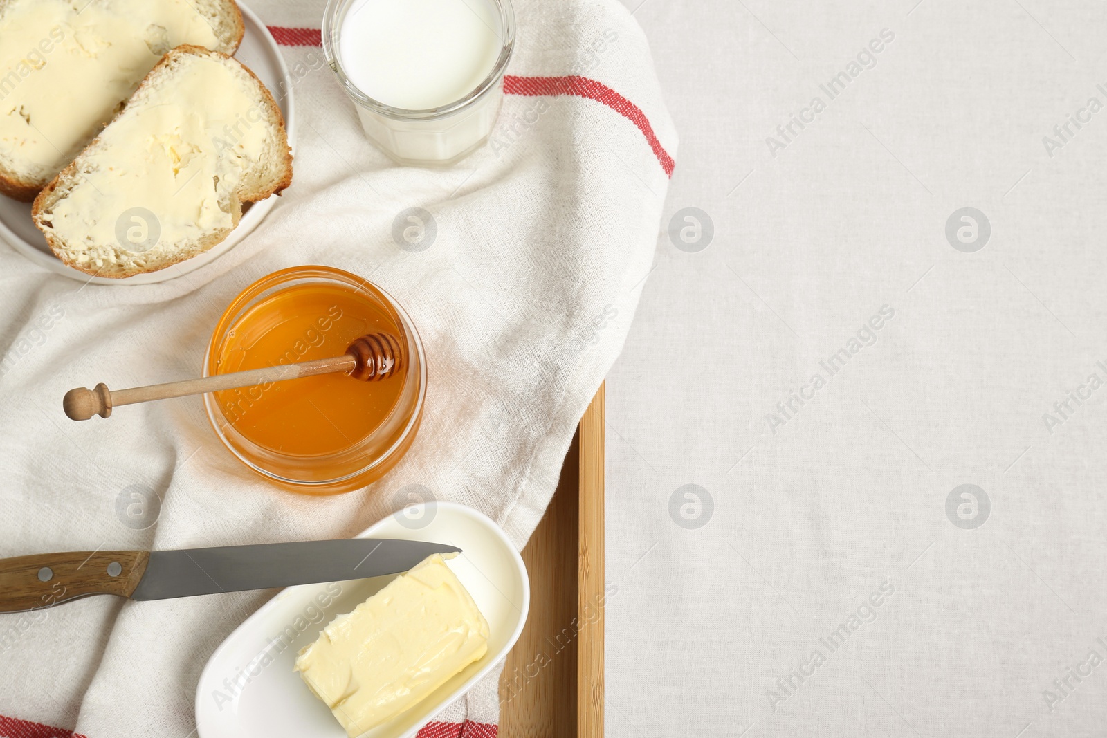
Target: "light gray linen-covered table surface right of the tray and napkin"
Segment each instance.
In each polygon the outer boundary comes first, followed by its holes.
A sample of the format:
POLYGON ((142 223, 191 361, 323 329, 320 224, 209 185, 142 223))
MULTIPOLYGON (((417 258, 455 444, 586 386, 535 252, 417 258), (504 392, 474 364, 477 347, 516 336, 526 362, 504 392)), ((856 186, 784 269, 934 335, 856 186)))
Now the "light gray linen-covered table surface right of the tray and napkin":
POLYGON ((607 735, 1107 735, 1107 4, 625 4, 607 735))

